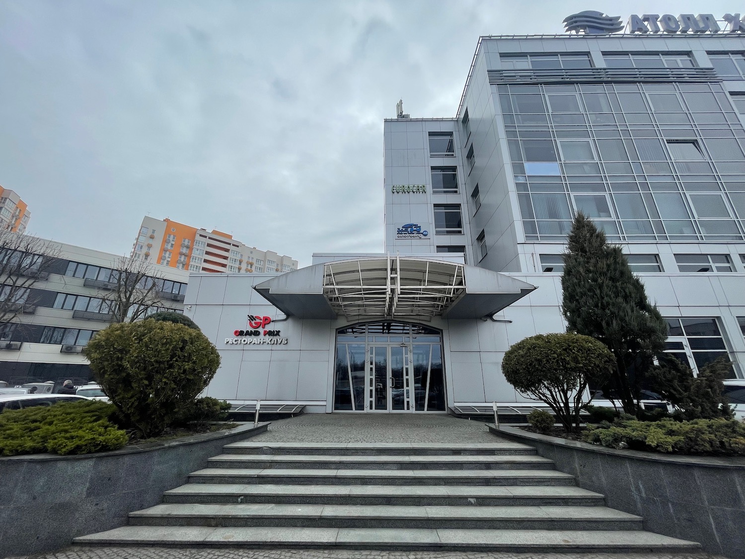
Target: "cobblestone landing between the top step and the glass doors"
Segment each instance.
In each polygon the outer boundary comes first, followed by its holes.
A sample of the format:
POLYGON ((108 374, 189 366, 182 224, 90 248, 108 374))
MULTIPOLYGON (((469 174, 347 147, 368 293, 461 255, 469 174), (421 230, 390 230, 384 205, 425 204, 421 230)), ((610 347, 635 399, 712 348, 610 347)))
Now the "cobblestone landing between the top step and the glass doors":
MULTIPOLYGON (((252 441, 281 443, 496 443, 486 423, 446 414, 302 414, 273 421, 252 441)), ((502 439, 503 440, 503 439, 502 439)))

